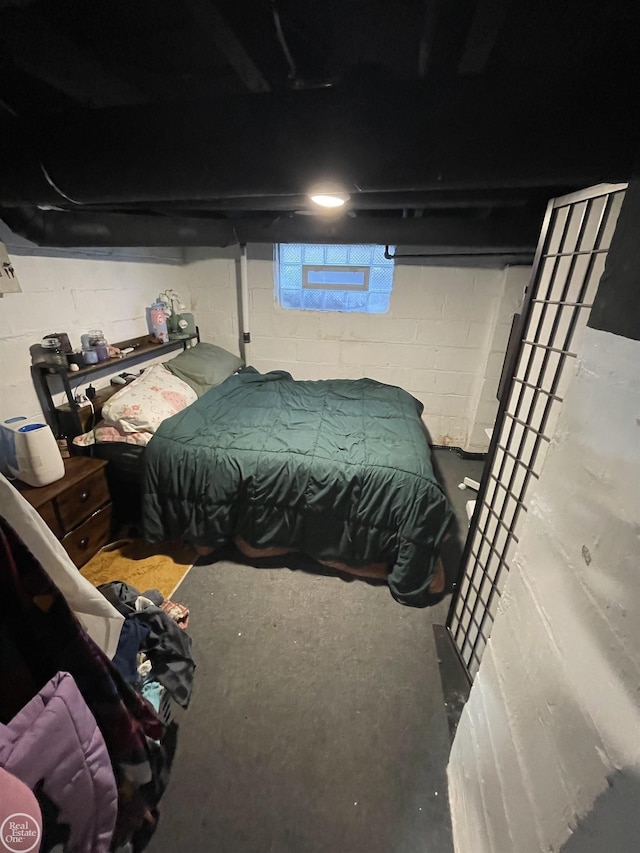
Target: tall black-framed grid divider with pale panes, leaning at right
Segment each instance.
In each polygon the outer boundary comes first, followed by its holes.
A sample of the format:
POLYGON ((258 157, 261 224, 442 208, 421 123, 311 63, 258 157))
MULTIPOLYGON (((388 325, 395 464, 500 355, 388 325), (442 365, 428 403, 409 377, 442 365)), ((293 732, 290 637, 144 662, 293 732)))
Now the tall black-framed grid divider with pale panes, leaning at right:
POLYGON ((540 476, 626 184, 549 203, 447 627, 476 675, 540 476))

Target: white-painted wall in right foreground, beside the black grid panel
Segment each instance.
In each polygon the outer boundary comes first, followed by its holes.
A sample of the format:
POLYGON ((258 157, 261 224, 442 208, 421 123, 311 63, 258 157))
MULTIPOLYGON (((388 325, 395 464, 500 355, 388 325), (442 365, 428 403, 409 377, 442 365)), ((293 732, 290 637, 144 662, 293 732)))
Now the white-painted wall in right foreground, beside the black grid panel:
POLYGON ((451 751, 457 853, 637 847, 638 364, 585 331, 451 751))

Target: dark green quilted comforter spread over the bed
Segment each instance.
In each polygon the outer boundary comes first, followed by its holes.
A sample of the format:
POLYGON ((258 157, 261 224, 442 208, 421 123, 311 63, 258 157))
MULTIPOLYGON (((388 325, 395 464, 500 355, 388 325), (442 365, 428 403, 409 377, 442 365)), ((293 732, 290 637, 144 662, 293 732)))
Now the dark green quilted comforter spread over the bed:
POLYGON ((452 513, 421 412, 371 379, 232 376, 149 442, 145 536, 217 547, 240 535, 318 560, 387 562, 394 598, 424 606, 452 513))

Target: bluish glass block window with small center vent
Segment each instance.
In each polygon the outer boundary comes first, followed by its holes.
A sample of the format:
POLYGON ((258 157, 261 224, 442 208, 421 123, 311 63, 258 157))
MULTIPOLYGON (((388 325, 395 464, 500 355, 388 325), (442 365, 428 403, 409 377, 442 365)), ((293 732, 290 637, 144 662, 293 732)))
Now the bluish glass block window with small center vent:
POLYGON ((394 267, 384 246, 277 243, 274 250, 276 299, 283 308, 389 310, 394 267))

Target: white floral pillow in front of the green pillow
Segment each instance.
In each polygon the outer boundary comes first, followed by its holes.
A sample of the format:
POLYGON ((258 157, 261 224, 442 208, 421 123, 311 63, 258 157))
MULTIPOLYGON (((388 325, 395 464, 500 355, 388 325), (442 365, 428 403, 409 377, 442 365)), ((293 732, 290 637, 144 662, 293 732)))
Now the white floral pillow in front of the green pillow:
POLYGON ((102 408, 108 426, 120 432, 154 433, 162 421, 186 409, 198 399, 196 392, 161 364, 125 385, 102 408))

